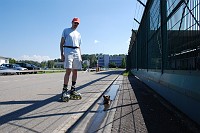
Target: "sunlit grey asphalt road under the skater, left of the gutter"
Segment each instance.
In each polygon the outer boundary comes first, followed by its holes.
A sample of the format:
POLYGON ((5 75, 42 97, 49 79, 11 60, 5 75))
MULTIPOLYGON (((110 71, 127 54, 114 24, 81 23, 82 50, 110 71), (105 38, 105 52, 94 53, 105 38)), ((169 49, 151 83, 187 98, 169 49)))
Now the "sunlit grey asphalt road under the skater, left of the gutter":
POLYGON ((60 101, 64 73, 0 76, 0 132, 64 132, 122 71, 79 72, 82 99, 67 103, 60 101))

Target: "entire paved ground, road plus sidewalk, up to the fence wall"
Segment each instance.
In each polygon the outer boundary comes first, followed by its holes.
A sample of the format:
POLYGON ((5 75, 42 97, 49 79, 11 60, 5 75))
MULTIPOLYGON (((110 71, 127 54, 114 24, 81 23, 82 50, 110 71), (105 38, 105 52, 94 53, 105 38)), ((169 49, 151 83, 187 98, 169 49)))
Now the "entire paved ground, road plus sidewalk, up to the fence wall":
POLYGON ((59 100, 64 73, 0 76, 0 132, 196 133, 189 120, 123 70, 79 72, 81 100, 59 100), (111 96, 104 111, 102 95, 111 96))

